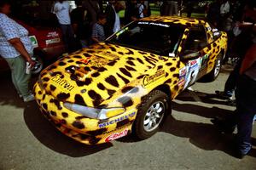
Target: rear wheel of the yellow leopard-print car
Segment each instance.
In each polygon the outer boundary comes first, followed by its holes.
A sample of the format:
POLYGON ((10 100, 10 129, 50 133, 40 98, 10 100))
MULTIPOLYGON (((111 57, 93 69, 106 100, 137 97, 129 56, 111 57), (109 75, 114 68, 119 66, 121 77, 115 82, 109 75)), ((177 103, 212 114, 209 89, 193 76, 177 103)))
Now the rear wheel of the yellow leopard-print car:
POLYGON ((223 58, 224 58, 224 54, 222 53, 218 54, 212 71, 209 72, 205 77, 203 77, 203 80, 205 80, 206 82, 213 82, 218 77, 222 63, 223 63, 223 58))

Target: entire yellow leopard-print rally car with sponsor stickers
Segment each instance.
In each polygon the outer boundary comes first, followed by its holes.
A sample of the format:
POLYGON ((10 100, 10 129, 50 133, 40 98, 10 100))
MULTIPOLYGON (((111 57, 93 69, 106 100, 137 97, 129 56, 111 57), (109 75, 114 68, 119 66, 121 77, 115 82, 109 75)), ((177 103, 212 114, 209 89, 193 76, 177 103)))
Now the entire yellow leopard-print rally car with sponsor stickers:
POLYGON ((204 20, 148 17, 42 71, 34 94, 61 133, 102 144, 147 139, 171 100, 201 77, 218 77, 227 34, 204 20))

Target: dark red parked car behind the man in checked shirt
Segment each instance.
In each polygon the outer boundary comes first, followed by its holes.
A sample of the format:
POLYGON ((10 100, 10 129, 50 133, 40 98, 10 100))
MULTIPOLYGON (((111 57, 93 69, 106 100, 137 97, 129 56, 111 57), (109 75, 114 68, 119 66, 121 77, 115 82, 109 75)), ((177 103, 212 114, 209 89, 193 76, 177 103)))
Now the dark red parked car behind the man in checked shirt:
MULTIPOLYGON (((57 59, 65 52, 62 41, 61 30, 55 27, 29 26, 25 22, 16 20, 21 26, 29 31, 29 37, 34 47, 32 59, 36 65, 32 69, 32 74, 38 74, 43 70, 44 64, 49 60, 57 59)), ((8 71, 9 65, 0 56, 0 71, 8 71)))

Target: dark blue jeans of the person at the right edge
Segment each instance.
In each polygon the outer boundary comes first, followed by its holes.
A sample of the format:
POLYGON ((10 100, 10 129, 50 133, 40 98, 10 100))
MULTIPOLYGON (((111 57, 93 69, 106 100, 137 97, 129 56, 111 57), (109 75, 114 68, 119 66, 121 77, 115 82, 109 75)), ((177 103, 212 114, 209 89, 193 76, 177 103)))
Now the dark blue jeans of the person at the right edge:
POLYGON ((236 120, 238 149, 247 154, 251 149, 253 117, 256 113, 256 81, 242 75, 236 86, 236 120))

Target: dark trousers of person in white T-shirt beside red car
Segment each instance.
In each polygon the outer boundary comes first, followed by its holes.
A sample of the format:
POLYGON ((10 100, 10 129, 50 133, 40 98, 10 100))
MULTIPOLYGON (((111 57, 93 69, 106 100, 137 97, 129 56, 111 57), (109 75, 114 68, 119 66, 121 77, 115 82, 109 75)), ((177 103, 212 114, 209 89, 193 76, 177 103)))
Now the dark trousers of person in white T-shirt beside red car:
POLYGON ((68 52, 72 52, 75 44, 73 28, 71 25, 60 25, 63 34, 63 42, 68 52))

